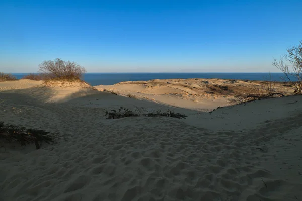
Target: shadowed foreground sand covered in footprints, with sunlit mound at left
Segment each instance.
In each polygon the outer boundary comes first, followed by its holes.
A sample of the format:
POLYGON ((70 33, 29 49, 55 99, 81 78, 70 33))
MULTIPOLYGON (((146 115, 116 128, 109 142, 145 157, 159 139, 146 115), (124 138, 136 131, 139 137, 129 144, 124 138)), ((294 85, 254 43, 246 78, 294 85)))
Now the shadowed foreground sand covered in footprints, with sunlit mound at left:
POLYGON ((69 140, 39 150, 4 143, 0 200, 302 199, 302 96, 211 113, 169 107, 186 119, 112 120, 103 109, 167 106, 77 84, 27 83, 0 83, 0 120, 69 140))

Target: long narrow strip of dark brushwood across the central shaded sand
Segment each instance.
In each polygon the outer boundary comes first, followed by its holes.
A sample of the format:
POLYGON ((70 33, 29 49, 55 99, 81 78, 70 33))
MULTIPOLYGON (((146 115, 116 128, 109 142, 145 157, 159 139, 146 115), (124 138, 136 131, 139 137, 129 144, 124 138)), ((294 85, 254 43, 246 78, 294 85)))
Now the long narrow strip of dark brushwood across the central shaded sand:
POLYGON ((132 111, 127 108, 120 107, 118 110, 111 110, 111 112, 108 112, 104 109, 105 115, 108 116, 108 119, 119 119, 124 117, 174 117, 174 118, 186 118, 186 115, 175 113, 174 111, 171 111, 170 109, 167 109, 166 111, 157 110, 155 112, 148 112, 144 110, 143 108, 138 109, 137 111, 132 111), (146 113, 142 113, 146 112, 146 113))

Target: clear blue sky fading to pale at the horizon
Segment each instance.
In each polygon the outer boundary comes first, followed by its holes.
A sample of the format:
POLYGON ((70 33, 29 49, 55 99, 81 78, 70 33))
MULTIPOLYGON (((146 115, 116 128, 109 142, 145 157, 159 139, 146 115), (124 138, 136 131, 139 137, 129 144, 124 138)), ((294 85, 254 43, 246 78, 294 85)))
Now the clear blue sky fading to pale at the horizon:
POLYGON ((0 0, 0 71, 61 58, 88 72, 278 72, 302 1, 0 0))

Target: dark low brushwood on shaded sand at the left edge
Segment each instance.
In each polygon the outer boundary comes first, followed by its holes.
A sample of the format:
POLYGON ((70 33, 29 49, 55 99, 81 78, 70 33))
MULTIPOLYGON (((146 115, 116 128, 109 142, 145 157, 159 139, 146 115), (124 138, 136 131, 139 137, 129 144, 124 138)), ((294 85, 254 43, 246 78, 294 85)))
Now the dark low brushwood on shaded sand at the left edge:
POLYGON ((11 124, 5 125, 4 122, 0 122, 0 140, 7 142, 17 142, 21 146, 35 143, 36 149, 39 149, 42 142, 47 144, 56 143, 56 140, 63 138, 59 133, 50 133, 43 130, 26 129, 25 127, 18 127, 11 124))

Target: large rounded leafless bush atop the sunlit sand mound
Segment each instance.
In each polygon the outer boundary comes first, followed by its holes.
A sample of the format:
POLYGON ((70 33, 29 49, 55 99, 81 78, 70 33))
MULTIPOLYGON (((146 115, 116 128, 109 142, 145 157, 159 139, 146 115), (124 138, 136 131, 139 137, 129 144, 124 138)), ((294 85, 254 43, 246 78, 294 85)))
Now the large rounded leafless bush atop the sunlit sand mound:
POLYGON ((79 64, 61 59, 43 61, 39 65, 39 73, 44 80, 79 80, 85 72, 85 68, 79 64))

